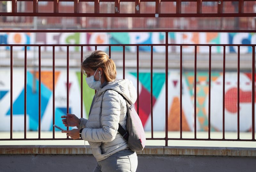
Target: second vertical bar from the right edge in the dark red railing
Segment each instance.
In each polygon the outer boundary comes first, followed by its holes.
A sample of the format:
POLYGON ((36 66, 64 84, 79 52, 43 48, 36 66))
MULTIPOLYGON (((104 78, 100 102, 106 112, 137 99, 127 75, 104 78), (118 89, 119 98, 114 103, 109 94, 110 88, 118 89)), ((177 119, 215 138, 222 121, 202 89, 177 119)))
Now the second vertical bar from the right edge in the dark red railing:
POLYGON ((237 48, 237 139, 240 139, 240 46, 237 48))

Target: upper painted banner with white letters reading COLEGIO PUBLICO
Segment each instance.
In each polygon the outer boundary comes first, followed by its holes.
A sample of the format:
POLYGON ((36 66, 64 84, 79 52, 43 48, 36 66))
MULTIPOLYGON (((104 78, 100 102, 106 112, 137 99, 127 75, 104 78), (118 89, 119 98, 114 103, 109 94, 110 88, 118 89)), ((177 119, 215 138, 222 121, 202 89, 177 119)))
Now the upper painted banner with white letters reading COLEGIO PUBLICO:
MULTIPOLYGON (((256 44, 255 33, 169 33, 169 43, 176 44, 256 44), (220 39, 221 38, 221 39, 220 39)), ((159 44, 165 43, 164 32, 147 33, 0 33, 0 44, 159 44)), ((28 51, 34 47, 28 46, 28 51)), ((140 51, 150 51, 148 46, 140 46, 140 51)), ((0 50, 10 47, 0 46, 0 50)), ((99 47, 108 51, 108 47, 99 47)), ((13 47, 14 51, 24 47, 13 47)), ((52 47, 42 47, 42 51, 52 51, 52 47)), ((65 47, 55 47, 55 51, 66 51, 65 47)), ((80 51, 80 47, 69 47, 69 51, 80 51)), ((84 51, 94 51, 94 46, 84 47, 84 51)), ((123 47, 112 47, 111 51, 123 51, 123 47)), ((136 52, 136 47, 126 47, 126 51, 136 52)), ((154 46, 153 51, 165 52, 164 46, 154 46)), ((209 50, 198 46, 197 52, 209 50)), ((180 52, 179 47, 169 46, 169 52, 180 52)), ((184 46, 183 52, 194 52, 193 46, 184 46)), ((212 53, 223 52, 222 47, 212 47, 212 53)), ((226 53, 237 52, 237 47, 226 47, 226 53)), ((240 53, 251 53, 252 47, 241 46, 240 53)))

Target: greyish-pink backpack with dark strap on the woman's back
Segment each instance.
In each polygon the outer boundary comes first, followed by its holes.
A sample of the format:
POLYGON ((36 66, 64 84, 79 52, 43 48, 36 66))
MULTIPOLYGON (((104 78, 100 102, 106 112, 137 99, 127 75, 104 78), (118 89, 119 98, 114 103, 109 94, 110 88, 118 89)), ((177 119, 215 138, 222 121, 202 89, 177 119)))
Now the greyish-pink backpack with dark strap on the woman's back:
MULTIPOLYGON (((106 90, 107 91, 107 90, 106 90)), ((113 90, 116 91, 116 90, 113 90)), ((116 91, 117 92, 117 91, 116 91)), ((118 92, 119 93, 119 92, 118 92)), ((119 93, 120 94, 120 93, 119 93)), ((127 119, 126 119, 126 129, 120 125, 118 127, 118 132, 122 135, 122 137, 128 142, 128 145, 132 151, 142 151, 146 144, 145 132, 140 121, 140 117, 138 113, 135 111, 133 106, 127 99, 120 94, 124 100, 126 101, 127 107, 127 119)))

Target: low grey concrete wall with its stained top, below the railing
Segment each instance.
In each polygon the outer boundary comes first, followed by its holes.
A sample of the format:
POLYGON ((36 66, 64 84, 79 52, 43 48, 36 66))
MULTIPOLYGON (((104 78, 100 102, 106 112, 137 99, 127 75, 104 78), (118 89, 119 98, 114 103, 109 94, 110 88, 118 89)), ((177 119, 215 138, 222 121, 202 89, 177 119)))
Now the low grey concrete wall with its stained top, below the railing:
MULTIPOLYGON (((46 149, 45 146, 43 147, 44 149, 46 149)), ((250 148, 247 149, 247 151, 252 153, 251 156, 197 154, 192 155, 192 153, 190 153, 189 155, 189 153, 185 152, 193 152, 191 151, 191 149, 198 149, 198 152, 202 149, 205 150, 205 148, 186 147, 183 148, 183 154, 164 154, 159 152, 158 148, 156 146, 146 147, 145 151, 147 150, 150 153, 138 153, 138 172, 254 172, 256 169, 256 156, 252 155, 255 150, 251 150, 250 148), (150 149, 151 151, 149 151, 150 149)), ((28 149, 28 147, 23 147, 22 149, 21 146, 18 146, 18 148, 13 148, 12 146, 0 146, 0 172, 91 172, 97 164, 95 158, 90 153, 36 153, 31 151, 36 150, 33 147, 30 147, 30 151, 27 153, 19 153, 20 151, 24 151, 26 149, 28 149)), ((49 146, 47 149, 52 149, 52 146, 49 146)), ((73 147, 72 149, 75 149, 75 147, 73 147)), ((78 149, 80 149, 80 147, 78 147, 78 149)), ((180 150, 182 148, 164 147, 164 149, 180 150)), ((207 150, 212 152, 214 152, 215 149, 217 152, 219 152, 220 150, 228 150, 227 148, 207 148, 207 150)), ((56 147, 54 148, 54 150, 56 150, 56 147)), ((233 152, 236 150, 240 153, 246 151, 244 150, 244 148, 236 148, 232 150, 233 152)))

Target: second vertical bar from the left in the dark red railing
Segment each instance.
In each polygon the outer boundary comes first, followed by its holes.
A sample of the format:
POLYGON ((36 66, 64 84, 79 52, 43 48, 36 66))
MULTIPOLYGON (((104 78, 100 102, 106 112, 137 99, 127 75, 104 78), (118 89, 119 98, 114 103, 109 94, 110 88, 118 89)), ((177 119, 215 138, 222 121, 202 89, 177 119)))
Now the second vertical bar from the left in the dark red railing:
POLYGON ((24 54, 24 138, 27 138, 27 46, 24 54))

